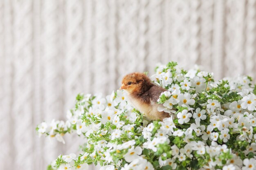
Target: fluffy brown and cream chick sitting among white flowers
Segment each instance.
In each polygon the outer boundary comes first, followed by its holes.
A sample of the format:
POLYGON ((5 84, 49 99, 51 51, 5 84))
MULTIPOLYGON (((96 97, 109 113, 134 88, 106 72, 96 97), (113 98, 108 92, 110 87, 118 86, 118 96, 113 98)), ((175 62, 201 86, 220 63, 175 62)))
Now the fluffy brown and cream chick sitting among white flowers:
POLYGON ((130 73, 124 76, 122 86, 128 92, 130 102, 149 120, 163 120, 170 115, 164 111, 159 112, 157 99, 166 89, 153 84, 148 76, 144 73, 130 73))

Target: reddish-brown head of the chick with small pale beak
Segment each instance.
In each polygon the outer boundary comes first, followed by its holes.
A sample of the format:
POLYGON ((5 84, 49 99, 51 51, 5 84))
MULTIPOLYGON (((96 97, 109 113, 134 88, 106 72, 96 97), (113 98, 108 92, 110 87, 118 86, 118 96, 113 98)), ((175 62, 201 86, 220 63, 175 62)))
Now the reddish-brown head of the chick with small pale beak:
POLYGON ((130 73, 124 76, 120 89, 128 93, 144 93, 152 86, 151 80, 144 73, 130 73))

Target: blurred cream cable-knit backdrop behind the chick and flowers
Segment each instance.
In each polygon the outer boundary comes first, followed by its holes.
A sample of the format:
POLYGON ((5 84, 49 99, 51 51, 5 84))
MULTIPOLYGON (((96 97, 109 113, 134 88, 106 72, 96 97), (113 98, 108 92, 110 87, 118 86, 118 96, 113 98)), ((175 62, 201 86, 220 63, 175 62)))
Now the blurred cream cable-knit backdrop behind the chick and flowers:
POLYGON ((45 170, 77 152, 82 138, 38 138, 36 125, 124 74, 173 60, 255 78, 255 25, 256 0, 0 0, 0 169, 45 170))

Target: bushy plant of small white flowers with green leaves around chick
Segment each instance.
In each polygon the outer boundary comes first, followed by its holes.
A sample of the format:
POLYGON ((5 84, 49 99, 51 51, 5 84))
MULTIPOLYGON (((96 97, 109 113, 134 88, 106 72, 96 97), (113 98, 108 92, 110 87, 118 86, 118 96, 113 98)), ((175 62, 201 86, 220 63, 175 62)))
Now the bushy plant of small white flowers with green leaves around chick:
POLYGON ((256 86, 249 76, 214 81, 198 68, 185 71, 176 62, 157 66, 152 81, 166 92, 158 110, 174 113, 147 122, 132 108, 125 91, 107 97, 83 95, 67 112, 67 121, 36 128, 65 143, 63 135, 86 138, 81 154, 60 155, 48 170, 255 170, 256 86))

